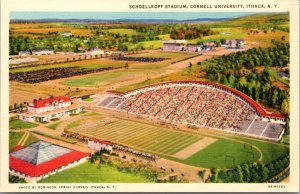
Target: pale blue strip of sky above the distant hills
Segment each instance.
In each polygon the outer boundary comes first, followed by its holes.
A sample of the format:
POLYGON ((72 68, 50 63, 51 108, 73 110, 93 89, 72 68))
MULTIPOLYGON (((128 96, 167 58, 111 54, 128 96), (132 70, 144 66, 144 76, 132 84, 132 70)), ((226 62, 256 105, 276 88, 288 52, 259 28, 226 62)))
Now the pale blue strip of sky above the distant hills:
POLYGON ((254 12, 11 12, 10 19, 171 19, 237 18, 254 12))

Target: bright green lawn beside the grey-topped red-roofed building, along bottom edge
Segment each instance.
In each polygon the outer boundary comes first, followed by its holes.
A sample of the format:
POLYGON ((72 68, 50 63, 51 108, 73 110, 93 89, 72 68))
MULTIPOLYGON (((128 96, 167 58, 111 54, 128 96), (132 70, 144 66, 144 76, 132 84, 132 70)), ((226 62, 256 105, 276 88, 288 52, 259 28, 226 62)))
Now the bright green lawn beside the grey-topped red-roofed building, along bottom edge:
POLYGON ((89 162, 41 180, 40 183, 147 183, 145 177, 118 171, 115 167, 89 162))

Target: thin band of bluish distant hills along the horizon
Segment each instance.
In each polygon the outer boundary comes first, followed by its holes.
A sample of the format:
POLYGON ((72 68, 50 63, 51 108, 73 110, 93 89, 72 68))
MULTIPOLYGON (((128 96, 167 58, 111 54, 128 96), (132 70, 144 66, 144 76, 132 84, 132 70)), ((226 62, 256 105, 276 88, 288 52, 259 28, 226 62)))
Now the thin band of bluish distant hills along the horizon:
POLYGON ((65 23, 203 23, 203 22, 216 22, 225 21, 232 18, 198 18, 192 20, 173 20, 173 19, 11 19, 11 23, 15 22, 65 22, 65 23))

